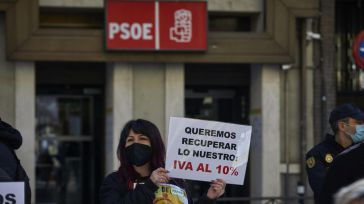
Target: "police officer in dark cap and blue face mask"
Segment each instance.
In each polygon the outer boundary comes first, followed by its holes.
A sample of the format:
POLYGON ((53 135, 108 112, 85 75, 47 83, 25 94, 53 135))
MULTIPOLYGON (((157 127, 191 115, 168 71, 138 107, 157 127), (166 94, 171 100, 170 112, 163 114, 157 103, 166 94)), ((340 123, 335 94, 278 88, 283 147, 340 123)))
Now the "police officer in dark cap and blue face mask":
POLYGON ((364 121, 364 113, 353 104, 343 104, 331 113, 329 123, 334 135, 327 134, 323 142, 306 154, 308 181, 314 192, 315 203, 321 191, 326 173, 336 155, 364 138, 357 137, 356 126, 364 121))

